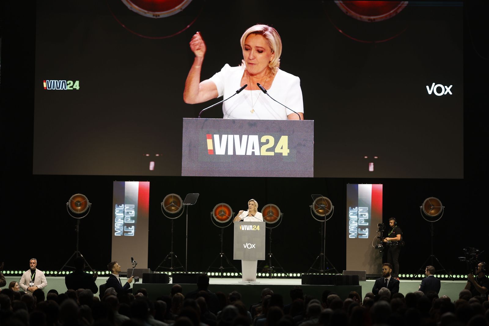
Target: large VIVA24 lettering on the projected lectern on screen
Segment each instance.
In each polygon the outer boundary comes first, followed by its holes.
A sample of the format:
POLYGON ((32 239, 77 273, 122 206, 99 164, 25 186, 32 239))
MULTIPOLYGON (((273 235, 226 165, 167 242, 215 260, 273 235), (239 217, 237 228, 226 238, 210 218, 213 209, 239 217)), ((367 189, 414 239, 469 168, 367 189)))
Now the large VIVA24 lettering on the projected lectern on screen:
POLYGON ((289 136, 280 136, 276 145, 275 138, 270 135, 258 138, 258 135, 207 134, 206 141, 209 155, 275 155, 275 153, 282 153, 282 156, 288 156, 290 152, 289 136))

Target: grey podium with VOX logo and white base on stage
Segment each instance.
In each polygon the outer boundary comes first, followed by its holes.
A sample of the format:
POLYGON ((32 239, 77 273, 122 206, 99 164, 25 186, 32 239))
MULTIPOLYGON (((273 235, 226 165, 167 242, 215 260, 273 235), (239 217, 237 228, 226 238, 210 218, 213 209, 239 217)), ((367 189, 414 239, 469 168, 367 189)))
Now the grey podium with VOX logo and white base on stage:
POLYGON ((235 222, 233 259, 241 260, 243 282, 256 282, 258 261, 265 260, 265 222, 235 222))

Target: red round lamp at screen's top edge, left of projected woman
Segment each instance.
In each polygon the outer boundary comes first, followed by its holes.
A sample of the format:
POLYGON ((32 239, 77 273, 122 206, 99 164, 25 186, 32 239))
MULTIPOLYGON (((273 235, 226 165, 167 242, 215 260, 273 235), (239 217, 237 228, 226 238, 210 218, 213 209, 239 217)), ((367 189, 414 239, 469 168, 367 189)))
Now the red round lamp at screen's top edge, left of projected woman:
POLYGON ((178 14, 192 0, 122 0, 124 4, 139 15, 162 18, 178 14))

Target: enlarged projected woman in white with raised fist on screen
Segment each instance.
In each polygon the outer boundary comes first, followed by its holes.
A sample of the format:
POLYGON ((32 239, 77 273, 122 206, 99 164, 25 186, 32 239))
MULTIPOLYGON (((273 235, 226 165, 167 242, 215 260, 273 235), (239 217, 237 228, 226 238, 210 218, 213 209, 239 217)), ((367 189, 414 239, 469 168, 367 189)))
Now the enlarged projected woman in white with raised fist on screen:
POLYGON ((226 64, 204 81, 200 81, 200 71, 206 46, 200 32, 192 37, 190 49, 195 59, 185 81, 185 103, 197 104, 221 96, 228 98, 247 85, 222 103, 224 119, 304 120, 300 79, 279 69, 282 40, 275 28, 261 24, 248 28, 241 37, 242 64, 234 67, 226 64))

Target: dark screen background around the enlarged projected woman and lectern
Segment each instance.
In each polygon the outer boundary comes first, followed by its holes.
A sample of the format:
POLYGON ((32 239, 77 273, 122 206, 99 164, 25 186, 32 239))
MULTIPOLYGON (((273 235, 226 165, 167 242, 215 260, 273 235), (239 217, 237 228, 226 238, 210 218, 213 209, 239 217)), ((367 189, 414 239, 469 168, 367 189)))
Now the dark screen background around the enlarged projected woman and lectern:
POLYGON ((38 2, 34 174, 181 175, 182 118, 216 102, 183 103, 192 35, 207 79, 240 64, 244 30, 266 23, 315 121, 314 176, 462 178, 462 13, 410 1, 362 22, 333 1, 192 1, 154 19, 120 0, 38 2))

